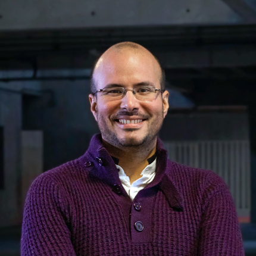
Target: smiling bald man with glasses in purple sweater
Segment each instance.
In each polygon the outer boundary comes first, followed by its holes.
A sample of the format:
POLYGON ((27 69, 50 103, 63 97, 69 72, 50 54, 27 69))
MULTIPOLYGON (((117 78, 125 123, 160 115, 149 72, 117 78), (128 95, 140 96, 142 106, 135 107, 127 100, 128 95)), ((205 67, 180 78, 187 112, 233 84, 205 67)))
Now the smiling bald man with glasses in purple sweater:
POLYGON ((157 134, 168 92, 151 52, 112 46, 91 87, 101 134, 85 155, 33 182, 21 255, 244 255, 223 180, 167 160, 157 134))

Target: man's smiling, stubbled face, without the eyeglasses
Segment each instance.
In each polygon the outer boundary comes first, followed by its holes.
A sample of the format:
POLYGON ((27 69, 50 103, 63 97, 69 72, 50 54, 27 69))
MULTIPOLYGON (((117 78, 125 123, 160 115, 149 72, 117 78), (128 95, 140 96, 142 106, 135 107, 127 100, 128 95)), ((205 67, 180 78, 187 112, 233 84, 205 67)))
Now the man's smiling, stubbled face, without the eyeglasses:
MULTIPOLYGON (((97 89, 109 85, 133 89, 141 83, 151 83, 161 89, 160 72, 157 61, 149 52, 135 53, 126 49, 102 56, 93 77, 97 89)), ((155 93, 150 100, 138 100, 130 90, 122 99, 108 98, 101 92, 89 98, 102 139, 117 148, 148 145, 155 141, 168 110, 167 91, 163 97, 161 93, 155 93)))

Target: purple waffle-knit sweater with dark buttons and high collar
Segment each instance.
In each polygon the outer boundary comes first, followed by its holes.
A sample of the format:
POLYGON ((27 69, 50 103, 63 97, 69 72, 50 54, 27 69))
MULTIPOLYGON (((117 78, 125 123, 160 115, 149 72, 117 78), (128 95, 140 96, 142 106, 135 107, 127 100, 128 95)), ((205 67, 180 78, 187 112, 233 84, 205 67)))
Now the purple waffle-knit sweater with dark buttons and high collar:
POLYGON ((95 135, 77 160, 41 174, 27 194, 21 256, 244 255, 229 189, 212 171, 167 160, 131 201, 95 135))

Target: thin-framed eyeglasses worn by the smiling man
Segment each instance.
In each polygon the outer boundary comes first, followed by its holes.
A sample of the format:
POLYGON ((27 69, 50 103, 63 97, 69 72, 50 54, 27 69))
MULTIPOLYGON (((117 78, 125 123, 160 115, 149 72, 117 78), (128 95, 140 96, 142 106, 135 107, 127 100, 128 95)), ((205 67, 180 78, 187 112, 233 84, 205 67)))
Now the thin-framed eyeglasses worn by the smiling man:
MULTIPOLYGON (((136 99, 153 99, 155 98, 155 94, 157 92, 163 93, 162 90, 155 89, 152 86, 141 86, 133 89, 125 89, 122 87, 107 87, 96 90, 95 93, 102 92, 102 95, 108 98, 121 99, 126 95, 127 90, 131 90, 136 99)), ((93 93, 93 95, 95 95, 95 93, 93 93)))

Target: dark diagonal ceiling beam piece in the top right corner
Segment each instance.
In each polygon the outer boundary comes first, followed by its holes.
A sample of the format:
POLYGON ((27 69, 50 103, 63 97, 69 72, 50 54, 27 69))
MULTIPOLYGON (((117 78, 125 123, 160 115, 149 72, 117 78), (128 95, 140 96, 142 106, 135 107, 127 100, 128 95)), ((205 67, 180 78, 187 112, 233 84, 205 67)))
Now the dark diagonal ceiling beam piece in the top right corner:
POLYGON ((222 0, 235 11, 246 23, 256 22, 256 11, 245 0, 222 0))

